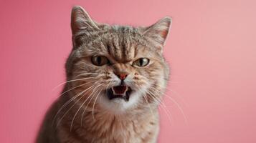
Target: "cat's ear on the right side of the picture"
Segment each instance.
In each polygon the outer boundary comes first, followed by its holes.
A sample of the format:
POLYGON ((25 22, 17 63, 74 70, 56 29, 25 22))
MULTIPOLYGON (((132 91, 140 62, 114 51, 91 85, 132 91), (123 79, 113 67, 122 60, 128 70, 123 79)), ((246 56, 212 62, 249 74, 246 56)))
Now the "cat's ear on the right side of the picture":
POLYGON ((157 21, 155 24, 146 27, 146 29, 143 29, 143 35, 153 41, 156 44, 157 49, 162 51, 170 28, 171 18, 164 17, 163 19, 157 21))

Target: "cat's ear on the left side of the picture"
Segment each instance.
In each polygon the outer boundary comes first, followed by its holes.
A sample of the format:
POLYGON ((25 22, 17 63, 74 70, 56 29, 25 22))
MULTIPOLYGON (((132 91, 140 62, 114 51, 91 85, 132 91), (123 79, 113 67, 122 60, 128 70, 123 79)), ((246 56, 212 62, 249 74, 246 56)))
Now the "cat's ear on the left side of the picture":
POLYGON ((81 6, 74 6, 71 12, 71 29, 73 46, 80 46, 80 36, 88 35, 92 31, 99 30, 98 24, 90 18, 89 14, 81 6))

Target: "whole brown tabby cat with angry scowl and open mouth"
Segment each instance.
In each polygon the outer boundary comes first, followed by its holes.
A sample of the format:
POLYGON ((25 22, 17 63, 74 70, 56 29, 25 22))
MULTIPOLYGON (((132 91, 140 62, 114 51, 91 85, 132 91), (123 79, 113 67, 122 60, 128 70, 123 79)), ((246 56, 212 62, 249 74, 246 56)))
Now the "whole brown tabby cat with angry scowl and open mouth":
POLYGON ((148 27, 100 24, 74 6, 67 82, 36 142, 157 142, 170 27, 169 17, 148 27))

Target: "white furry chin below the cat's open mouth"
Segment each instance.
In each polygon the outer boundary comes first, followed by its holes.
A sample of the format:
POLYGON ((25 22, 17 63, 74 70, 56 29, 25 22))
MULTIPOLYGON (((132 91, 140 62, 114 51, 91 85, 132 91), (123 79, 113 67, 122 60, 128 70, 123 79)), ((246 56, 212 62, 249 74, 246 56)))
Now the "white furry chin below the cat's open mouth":
POLYGON ((120 98, 110 100, 107 96, 104 96, 101 99, 100 107, 113 114, 122 114, 136 107, 139 102, 139 97, 141 96, 137 92, 132 93, 128 101, 120 98))

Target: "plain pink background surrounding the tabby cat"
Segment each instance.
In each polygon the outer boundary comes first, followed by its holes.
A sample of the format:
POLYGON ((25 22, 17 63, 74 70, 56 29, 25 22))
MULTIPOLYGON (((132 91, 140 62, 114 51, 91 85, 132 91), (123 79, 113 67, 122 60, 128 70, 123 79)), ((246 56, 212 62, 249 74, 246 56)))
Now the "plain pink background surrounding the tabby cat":
POLYGON ((171 112, 162 143, 256 142, 254 0, 4 1, 0 4, 0 142, 34 142, 65 80, 70 10, 81 5, 110 24, 150 25, 172 16, 164 54, 171 64, 171 112))

